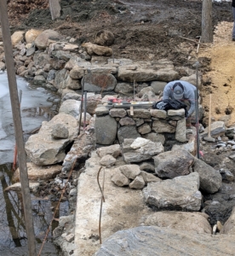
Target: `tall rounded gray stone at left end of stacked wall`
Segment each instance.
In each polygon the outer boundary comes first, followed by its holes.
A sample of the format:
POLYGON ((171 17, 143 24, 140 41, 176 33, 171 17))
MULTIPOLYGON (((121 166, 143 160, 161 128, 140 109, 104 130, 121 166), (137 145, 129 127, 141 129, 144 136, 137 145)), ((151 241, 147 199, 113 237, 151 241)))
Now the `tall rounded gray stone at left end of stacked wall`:
POLYGON ((95 118, 96 143, 111 145, 117 136, 117 122, 110 115, 95 118))

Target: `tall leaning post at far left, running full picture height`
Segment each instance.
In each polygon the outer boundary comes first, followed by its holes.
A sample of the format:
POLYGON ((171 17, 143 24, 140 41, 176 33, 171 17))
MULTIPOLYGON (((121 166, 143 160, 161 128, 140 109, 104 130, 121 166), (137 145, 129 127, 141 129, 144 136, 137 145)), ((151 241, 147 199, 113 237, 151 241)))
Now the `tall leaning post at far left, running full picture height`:
POLYGON ((0 20, 3 31, 3 46, 4 54, 6 58, 6 66, 8 71, 9 79, 9 93, 11 108, 13 113, 14 120, 14 132, 15 140, 18 148, 18 159, 20 167, 20 182, 21 182, 21 192, 23 198, 23 206, 25 213, 25 222, 26 222, 26 234, 28 239, 28 252, 30 256, 36 255, 36 245, 35 245, 35 235, 33 228, 33 218, 32 218, 32 204, 31 204, 31 195, 29 189, 29 180, 26 166, 26 151, 24 145, 23 131, 22 131, 22 122, 20 117, 20 103, 17 91, 17 84, 14 72, 14 57, 11 44, 11 35, 9 30, 9 17, 8 17, 8 8, 7 0, 0 1, 0 20))

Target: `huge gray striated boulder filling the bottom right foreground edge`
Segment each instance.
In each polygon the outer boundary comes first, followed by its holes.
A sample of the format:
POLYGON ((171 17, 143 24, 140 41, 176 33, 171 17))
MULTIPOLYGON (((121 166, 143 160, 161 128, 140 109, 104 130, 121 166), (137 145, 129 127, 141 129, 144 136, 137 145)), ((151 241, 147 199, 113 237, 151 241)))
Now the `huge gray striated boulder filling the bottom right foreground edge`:
POLYGON ((234 238, 142 226, 117 231, 102 243, 94 256, 228 256, 234 254, 234 238))

